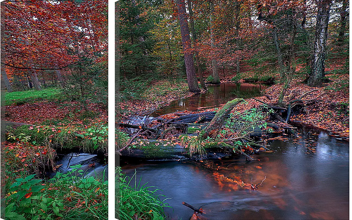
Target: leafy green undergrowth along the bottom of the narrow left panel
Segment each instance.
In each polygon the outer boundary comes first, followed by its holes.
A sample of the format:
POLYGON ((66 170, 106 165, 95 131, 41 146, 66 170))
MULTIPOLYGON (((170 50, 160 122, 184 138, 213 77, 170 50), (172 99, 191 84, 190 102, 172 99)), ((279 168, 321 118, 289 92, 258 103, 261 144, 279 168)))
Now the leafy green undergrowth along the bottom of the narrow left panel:
POLYGON ((108 219, 107 181, 81 178, 80 165, 67 174, 57 172, 48 181, 35 174, 17 178, 5 197, 6 219, 108 219))

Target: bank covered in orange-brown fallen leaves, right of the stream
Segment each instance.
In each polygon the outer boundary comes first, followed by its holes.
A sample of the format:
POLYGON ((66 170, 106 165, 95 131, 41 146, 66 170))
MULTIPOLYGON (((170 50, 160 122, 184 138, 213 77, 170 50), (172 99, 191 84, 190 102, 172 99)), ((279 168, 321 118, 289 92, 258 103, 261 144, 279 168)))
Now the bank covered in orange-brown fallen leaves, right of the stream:
MULTIPOLYGON (((348 76, 341 76, 347 77, 348 76)), ((330 82, 332 86, 334 82, 330 82)), ((335 82, 337 83, 337 82, 335 82)), ((254 99, 246 99, 246 103, 239 103, 232 111, 243 113, 252 108, 263 106, 263 102, 270 106, 276 106, 279 94, 282 90, 282 84, 278 83, 270 86, 262 91, 262 95, 254 99), (261 102, 260 102, 261 101, 261 102)), ((349 93, 348 87, 336 90, 336 87, 329 87, 325 84, 321 88, 313 88, 302 84, 300 79, 294 80, 287 89, 284 101, 290 101, 304 96, 304 103, 300 103, 299 107, 293 108, 290 122, 294 124, 302 124, 313 128, 327 130, 342 137, 349 136, 349 93)), ((198 107, 196 111, 185 111, 183 113, 199 113, 217 111, 224 104, 216 105, 216 107, 198 107)), ((177 114, 163 115, 162 118, 176 118, 177 114)))

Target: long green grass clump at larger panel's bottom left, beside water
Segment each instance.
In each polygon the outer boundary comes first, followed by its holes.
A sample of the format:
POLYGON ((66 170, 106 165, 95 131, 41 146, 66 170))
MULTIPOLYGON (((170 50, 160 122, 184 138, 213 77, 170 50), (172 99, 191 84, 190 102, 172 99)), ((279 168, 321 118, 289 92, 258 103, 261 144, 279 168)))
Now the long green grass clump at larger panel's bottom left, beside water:
POLYGON ((158 194, 156 187, 147 187, 137 180, 136 172, 130 178, 121 174, 117 168, 117 217, 120 220, 163 220, 165 219, 164 207, 170 207, 158 194))

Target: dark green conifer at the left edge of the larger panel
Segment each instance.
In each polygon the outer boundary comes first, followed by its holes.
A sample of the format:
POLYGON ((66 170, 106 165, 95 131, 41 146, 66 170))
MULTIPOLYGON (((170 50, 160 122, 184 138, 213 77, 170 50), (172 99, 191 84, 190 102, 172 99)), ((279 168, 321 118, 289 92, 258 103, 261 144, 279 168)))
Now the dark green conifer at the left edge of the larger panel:
POLYGON ((156 20, 148 13, 151 7, 141 0, 120 1, 120 68, 124 76, 155 70, 155 57, 152 56, 155 42, 150 30, 156 20))

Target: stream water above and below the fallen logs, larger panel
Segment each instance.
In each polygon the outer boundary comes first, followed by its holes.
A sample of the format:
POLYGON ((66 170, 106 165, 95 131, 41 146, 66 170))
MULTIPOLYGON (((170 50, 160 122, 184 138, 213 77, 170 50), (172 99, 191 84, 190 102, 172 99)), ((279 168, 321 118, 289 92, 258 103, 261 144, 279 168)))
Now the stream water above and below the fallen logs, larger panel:
MULTIPOLYGON (((214 97, 215 90, 226 91, 216 96, 218 101, 214 98, 208 103, 209 99, 200 97, 179 100, 144 115, 144 120, 172 111, 219 105, 236 97, 248 98, 245 91, 241 92, 243 96, 229 95, 233 94, 233 88, 238 91, 233 85, 214 86, 200 96, 214 97), (176 107, 180 102, 182 105, 176 107)), ((246 89, 249 96, 258 95, 252 93, 251 87, 246 89)), ((165 208, 170 219, 190 219, 193 211, 182 202, 203 208, 206 219, 348 219, 348 141, 305 127, 299 134, 298 138, 269 139, 268 148, 273 152, 252 155, 260 161, 246 162, 241 156, 231 160, 159 161, 121 166, 128 176, 136 170, 137 180, 142 178, 142 183, 162 189, 159 193, 171 198, 166 201, 173 209, 165 208), (262 182, 265 176, 266 179, 254 191, 243 189, 230 179, 221 180, 220 175, 254 184, 262 182)))

